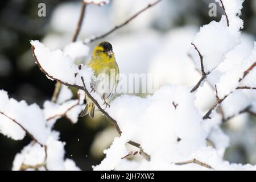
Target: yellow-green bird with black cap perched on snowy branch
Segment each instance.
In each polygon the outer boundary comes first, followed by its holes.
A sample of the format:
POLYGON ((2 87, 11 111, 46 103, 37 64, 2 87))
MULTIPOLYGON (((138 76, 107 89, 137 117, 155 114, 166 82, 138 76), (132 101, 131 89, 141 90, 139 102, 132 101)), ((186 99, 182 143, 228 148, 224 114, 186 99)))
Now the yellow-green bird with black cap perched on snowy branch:
MULTIPOLYGON (((91 82, 92 91, 100 93, 106 107, 109 104, 106 102, 112 97, 117 88, 119 79, 119 68, 115 61, 112 45, 109 42, 99 43, 93 50, 92 59, 87 63, 88 67, 92 68, 96 80, 91 82)), ((91 92, 92 92, 91 91, 91 92)), ((88 96, 85 96, 86 106, 81 113, 81 117, 89 114, 94 117, 94 103, 88 96)))

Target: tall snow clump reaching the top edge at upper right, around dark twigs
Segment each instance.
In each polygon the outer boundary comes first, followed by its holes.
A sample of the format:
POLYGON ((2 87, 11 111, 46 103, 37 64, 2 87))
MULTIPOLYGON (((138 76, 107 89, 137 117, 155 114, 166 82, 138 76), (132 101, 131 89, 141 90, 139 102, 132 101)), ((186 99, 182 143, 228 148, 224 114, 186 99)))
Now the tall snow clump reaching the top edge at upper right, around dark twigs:
MULTIPOLYGON (((219 2, 218 0, 216 0, 219 2)), ((223 1, 226 13, 229 17, 229 27, 226 18, 223 15, 220 22, 212 21, 200 28, 199 33, 193 43, 204 57, 205 72, 211 72, 225 58, 226 53, 232 51, 239 43, 243 27, 243 21, 239 18, 242 9, 243 0, 223 1)), ((192 51, 197 69, 200 69, 200 59, 196 55, 196 51, 192 51)))

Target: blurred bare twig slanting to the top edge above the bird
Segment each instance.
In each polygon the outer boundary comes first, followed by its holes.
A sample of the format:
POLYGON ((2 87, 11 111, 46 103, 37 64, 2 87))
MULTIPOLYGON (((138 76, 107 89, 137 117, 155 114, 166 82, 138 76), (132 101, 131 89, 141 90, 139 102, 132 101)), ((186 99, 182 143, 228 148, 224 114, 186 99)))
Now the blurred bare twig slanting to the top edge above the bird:
POLYGON ((160 1, 162 0, 157 0, 149 5, 147 5, 146 7, 144 7, 142 10, 138 11, 137 13, 135 13, 133 16, 131 16, 129 19, 125 20, 125 22, 115 26, 114 28, 112 28, 111 30, 109 30, 108 32, 106 32, 105 34, 99 35, 99 36, 92 36, 91 38, 88 38, 85 42, 85 44, 94 42, 95 40, 98 39, 102 39, 105 36, 108 36, 109 34, 112 34, 112 32, 114 32, 115 30, 117 30, 118 28, 121 28, 123 26, 125 26, 127 23, 129 23, 131 20, 133 20, 134 18, 136 18, 139 14, 143 13, 144 11, 146 11, 147 9, 149 9, 152 6, 155 6, 156 4, 158 4, 160 1))

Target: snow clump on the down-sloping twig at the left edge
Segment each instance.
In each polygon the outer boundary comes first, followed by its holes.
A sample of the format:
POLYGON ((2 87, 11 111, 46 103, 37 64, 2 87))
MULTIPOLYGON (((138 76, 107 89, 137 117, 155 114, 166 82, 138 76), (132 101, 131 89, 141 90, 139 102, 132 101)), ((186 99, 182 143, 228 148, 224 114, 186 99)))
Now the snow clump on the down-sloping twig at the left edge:
MULTIPOLYGON (((38 105, 27 105, 25 101, 18 102, 13 98, 9 98, 7 92, 0 90, 0 111, 19 123, 19 125, 26 129, 39 143, 46 144, 46 121, 43 111, 38 105)), ((1 116, 1 118, 3 118, 3 116, 1 116)), ((14 121, 9 119, 9 122, 14 121)), ((6 119, 3 119, 0 123, 1 131, 7 128, 3 134, 14 139, 22 139, 24 137, 24 131, 22 131, 21 127, 18 129, 17 125, 7 123, 6 119), (7 125, 5 125, 5 123, 7 123, 7 125)))

